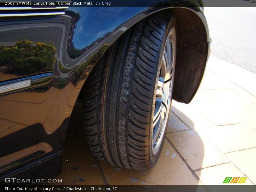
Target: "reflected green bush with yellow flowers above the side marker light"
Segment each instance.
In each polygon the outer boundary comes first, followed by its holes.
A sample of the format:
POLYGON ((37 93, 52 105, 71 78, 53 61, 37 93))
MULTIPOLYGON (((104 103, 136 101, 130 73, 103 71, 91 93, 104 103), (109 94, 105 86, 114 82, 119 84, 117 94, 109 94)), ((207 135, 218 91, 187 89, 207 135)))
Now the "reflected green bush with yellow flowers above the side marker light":
POLYGON ((0 46, 0 72, 17 76, 53 71, 56 48, 52 43, 27 39, 13 46, 0 46))

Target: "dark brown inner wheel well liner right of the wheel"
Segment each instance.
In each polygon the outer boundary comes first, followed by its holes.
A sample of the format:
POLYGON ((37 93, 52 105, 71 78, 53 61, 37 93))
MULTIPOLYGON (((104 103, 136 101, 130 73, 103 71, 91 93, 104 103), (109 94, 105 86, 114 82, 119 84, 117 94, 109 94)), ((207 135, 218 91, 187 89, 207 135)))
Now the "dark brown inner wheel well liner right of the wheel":
POLYGON ((172 98, 189 103, 196 94, 208 58, 207 30, 201 18, 187 8, 172 8, 176 16, 177 54, 172 98))

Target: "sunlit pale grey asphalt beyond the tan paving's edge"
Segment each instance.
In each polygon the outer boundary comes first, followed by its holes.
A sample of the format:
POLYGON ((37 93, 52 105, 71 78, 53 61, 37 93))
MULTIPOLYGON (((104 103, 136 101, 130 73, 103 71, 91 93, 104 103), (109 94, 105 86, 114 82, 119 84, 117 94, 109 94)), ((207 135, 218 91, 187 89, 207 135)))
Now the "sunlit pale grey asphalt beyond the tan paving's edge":
POLYGON ((212 56, 256 74, 256 7, 205 7, 212 56))

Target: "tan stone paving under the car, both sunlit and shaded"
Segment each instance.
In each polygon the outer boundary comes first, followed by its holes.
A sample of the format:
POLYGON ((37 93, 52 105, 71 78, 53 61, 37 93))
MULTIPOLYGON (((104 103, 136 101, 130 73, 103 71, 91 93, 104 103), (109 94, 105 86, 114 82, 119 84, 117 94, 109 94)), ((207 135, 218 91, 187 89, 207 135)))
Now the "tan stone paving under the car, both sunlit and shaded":
POLYGON ((65 185, 221 185, 225 177, 248 177, 243 185, 255 185, 256 86, 252 82, 255 74, 211 57, 192 102, 173 101, 163 150, 156 166, 147 171, 95 160, 79 129, 82 109, 76 103, 58 178, 65 185))

